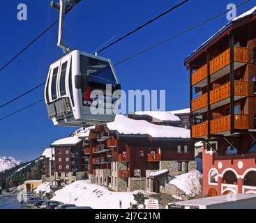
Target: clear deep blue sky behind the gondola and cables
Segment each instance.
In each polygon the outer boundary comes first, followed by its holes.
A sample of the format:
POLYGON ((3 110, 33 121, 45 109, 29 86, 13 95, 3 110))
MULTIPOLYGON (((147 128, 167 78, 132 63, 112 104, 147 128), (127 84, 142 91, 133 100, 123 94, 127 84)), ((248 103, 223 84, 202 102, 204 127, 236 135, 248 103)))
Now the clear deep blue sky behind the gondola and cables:
MULTIPOLYGON (((240 3, 242 0, 233 0, 240 3)), ((180 1, 168 0, 83 0, 66 18, 66 43, 73 49, 92 52, 113 36, 119 37, 180 1)), ((190 0, 185 5, 146 26, 100 56, 113 63, 164 40, 179 31, 225 10, 230 0, 190 0)), ((255 1, 238 9, 240 15, 255 6, 255 1)), ((57 20, 50 0, 12 0, 1 2, 1 59, 8 59, 27 45, 43 29, 57 20), (26 3, 28 20, 17 20, 17 4, 26 3)), ((227 23, 225 15, 190 31, 170 43, 137 56, 116 67, 122 88, 165 89, 167 110, 189 107, 189 75, 183 60, 209 36, 227 23)), ((0 72, 0 104, 44 82, 48 66, 62 56, 57 46, 57 26, 38 40, 8 68, 0 72)), ((43 98, 40 88, 17 102, 0 109, 0 118, 43 98)), ((66 137, 74 128, 55 127, 47 119, 44 103, 0 121, 0 156, 31 160, 52 141, 66 137)))

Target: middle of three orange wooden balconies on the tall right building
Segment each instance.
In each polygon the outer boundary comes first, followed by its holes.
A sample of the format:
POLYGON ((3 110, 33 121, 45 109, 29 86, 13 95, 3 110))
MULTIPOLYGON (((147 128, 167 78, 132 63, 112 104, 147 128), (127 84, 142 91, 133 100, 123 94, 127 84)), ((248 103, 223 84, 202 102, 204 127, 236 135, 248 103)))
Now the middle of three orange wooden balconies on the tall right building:
MULTIPOLYGON (((228 82, 227 84, 223 84, 217 89, 210 91, 211 109, 216 109, 216 107, 229 104, 230 89, 230 82, 228 82)), ((248 95, 248 82, 234 81, 234 100, 240 100, 248 95)), ((198 98, 195 98, 192 100, 191 104, 192 112, 207 112, 208 93, 204 93, 198 98)))

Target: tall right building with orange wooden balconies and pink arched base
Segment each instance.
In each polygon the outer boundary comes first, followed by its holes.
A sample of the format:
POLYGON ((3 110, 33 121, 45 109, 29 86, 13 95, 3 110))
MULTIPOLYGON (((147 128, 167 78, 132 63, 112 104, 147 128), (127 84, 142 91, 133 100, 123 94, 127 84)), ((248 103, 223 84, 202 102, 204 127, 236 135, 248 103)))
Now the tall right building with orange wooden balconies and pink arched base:
POLYGON ((255 59, 256 7, 185 60, 191 137, 205 142, 204 195, 256 193, 255 59))

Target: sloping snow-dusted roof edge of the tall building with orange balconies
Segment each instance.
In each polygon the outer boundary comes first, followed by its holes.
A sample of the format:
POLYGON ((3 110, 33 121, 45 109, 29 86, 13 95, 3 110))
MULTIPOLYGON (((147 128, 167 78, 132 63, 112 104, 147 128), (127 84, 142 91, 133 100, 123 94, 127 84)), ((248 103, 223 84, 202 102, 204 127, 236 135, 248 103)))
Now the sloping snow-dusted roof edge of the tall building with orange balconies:
POLYGON ((237 22, 239 20, 243 20, 246 17, 250 16, 250 15, 255 15, 256 14, 256 6, 251 8, 250 10, 246 11, 246 13, 243 13, 242 15, 239 15, 238 17, 236 17, 234 20, 232 20, 231 22, 228 22, 225 26, 223 26, 223 28, 221 28, 218 32, 216 32, 215 34, 213 34, 213 36, 211 36, 211 38, 209 38, 208 40, 206 40, 206 42, 202 43, 202 45, 200 45, 197 49, 195 49, 195 51, 190 54, 186 59, 185 59, 185 63, 189 61, 189 59, 191 59, 193 56, 195 56, 195 54, 197 54, 197 52, 199 52, 200 50, 204 49, 204 47, 206 47, 207 45, 209 45, 209 43, 211 43, 213 40, 215 40, 216 38, 218 38, 218 36, 220 36, 222 33, 224 33, 230 26, 232 26, 232 24, 234 22, 237 22))

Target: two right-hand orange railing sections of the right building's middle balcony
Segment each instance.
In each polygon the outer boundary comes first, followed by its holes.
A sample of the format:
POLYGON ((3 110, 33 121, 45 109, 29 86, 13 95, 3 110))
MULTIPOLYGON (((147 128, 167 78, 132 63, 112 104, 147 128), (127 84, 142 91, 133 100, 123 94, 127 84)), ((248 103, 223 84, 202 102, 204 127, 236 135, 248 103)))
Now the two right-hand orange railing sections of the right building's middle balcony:
MULTIPOLYGON (((234 82, 234 95, 248 96, 248 82, 235 81, 234 82)), ((211 105, 230 97, 230 82, 223 84, 218 89, 213 89, 210 92, 211 105)))

